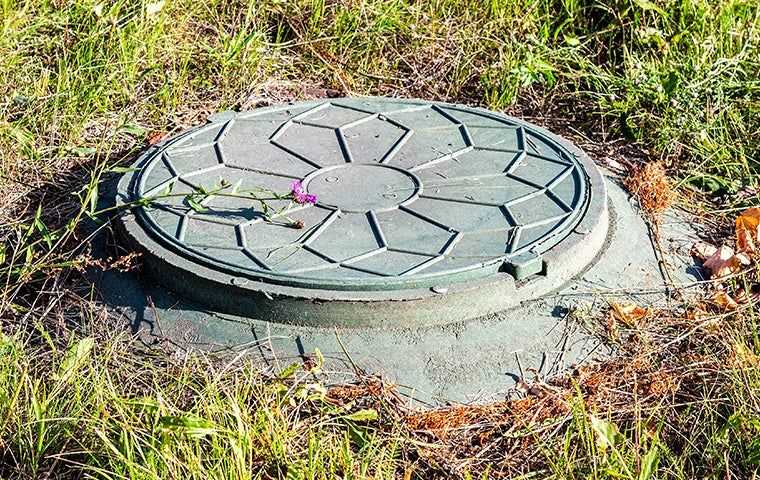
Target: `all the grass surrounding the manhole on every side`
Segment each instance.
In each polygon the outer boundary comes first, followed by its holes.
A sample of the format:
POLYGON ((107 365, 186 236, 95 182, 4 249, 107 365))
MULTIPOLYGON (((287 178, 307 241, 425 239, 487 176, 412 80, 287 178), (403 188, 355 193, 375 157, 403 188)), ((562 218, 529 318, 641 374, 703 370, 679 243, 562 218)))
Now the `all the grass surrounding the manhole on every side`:
POLYGON ((141 352, 103 333, 122 327, 79 272, 81 221, 151 132, 326 93, 483 105, 633 148, 725 231, 757 203, 759 44, 756 0, 0 0, 0 477, 756 475, 751 304, 717 332, 639 332, 628 358, 668 345, 642 375, 678 372, 678 395, 626 379, 605 400, 579 380, 543 423, 441 436, 388 395, 325 397, 313 372, 141 352))

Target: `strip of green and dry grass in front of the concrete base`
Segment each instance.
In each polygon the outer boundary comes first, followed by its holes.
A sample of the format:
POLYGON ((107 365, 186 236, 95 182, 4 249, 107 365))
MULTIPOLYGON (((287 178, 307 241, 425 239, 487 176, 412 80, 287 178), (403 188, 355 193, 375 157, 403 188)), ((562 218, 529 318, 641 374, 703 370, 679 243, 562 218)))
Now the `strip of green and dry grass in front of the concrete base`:
POLYGON ((325 388, 318 354, 272 375, 244 358, 142 351, 124 336, 41 344, 52 336, 6 333, 0 475, 751 478, 754 307, 705 308, 612 324, 600 335, 618 358, 524 379, 516 400, 422 411, 372 377, 325 388))

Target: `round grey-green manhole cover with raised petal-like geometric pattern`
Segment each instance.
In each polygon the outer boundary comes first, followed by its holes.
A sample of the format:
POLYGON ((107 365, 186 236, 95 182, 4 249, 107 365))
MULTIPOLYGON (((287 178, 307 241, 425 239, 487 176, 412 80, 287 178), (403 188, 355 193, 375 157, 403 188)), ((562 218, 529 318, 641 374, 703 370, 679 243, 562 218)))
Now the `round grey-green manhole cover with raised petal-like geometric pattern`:
MULTIPOLYGON (((172 275, 197 265, 217 283, 336 300, 551 274, 569 237, 583 248, 592 227, 606 232, 601 178, 572 145, 494 112, 398 99, 218 115, 146 152, 119 195, 136 206, 128 233, 172 275), (294 201, 294 182, 316 203, 294 201)), ((588 262, 576 263, 558 271, 588 262)))

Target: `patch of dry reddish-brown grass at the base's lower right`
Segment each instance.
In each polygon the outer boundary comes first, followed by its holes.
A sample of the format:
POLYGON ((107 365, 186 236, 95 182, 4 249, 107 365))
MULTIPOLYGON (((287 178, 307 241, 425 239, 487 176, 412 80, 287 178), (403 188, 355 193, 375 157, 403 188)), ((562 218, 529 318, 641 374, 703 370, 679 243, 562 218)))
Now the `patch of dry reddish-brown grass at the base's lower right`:
MULTIPOLYGON (((600 330, 605 318, 597 317, 600 330)), ((439 446, 419 452, 426 468, 441 478, 464 471, 488 472, 489 478, 547 471, 565 435, 580 435, 579 407, 609 416, 624 431, 647 425, 648 435, 655 435, 654 426, 661 425, 660 441, 680 454, 701 454, 693 441, 703 433, 700 422, 713 408, 730 405, 733 383, 725 365, 741 361, 746 367, 757 359, 725 342, 726 331, 736 328, 742 315, 695 301, 652 310, 648 318, 652 321, 618 325, 620 331, 606 337, 618 342, 619 356, 548 382, 521 382, 524 394, 517 400, 407 413, 411 434, 439 446), (721 328, 714 328, 716 322, 721 328), (702 402, 714 404, 698 407, 702 402)))

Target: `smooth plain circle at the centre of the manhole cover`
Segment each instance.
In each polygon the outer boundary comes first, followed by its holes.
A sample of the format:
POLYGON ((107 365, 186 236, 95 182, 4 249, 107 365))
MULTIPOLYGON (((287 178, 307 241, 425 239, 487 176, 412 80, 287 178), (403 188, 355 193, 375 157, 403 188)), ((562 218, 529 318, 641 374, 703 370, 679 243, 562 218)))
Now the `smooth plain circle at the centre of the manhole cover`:
POLYGON ((322 168, 304 179, 320 205, 348 213, 383 212, 416 198, 422 184, 413 174, 380 164, 349 163, 322 168))

